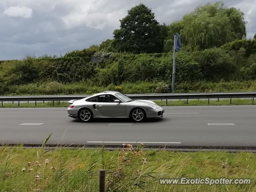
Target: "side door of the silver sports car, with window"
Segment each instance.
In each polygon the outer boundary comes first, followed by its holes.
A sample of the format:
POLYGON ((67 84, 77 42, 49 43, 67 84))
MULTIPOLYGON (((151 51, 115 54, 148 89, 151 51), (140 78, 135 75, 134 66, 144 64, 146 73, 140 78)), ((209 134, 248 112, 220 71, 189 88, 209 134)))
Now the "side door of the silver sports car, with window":
POLYGON ((111 94, 102 94, 98 96, 96 107, 104 116, 117 117, 126 116, 126 105, 124 103, 115 103, 117 98, 111 94))

